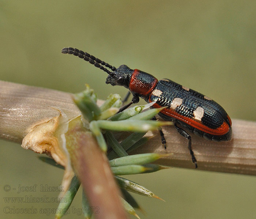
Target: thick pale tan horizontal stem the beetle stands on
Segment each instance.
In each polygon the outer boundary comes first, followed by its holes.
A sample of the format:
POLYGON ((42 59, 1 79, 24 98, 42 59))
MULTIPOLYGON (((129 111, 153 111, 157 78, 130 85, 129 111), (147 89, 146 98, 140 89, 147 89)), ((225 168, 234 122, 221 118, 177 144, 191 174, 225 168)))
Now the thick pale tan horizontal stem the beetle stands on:
MULTIPOLYGON (((40 120, 56 116, 62 110, 69 119, 80 112, 69 93, 0 81, 0 138, 21 143, 28 127, 40 120)), ((256 122, 232 119, 230 142, 212 142, 192 135, 192 147, 198 169, 256 175, 256 122)), ((163 127, 167 150, 163 150, 158 132, 133 153, 173 153, 157 164, 194 168, 187 149, 187 140, 174 127, 163 127)))

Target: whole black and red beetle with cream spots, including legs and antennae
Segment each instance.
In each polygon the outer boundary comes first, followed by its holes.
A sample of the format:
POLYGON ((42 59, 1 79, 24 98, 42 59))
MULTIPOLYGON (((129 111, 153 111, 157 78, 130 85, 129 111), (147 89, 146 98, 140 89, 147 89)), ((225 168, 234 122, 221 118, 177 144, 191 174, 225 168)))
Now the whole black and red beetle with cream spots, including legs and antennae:
MULTIPOLYGON (((66 47, 61 52, 78 56, 108 73, 106 84, 119 85, 129 89, 125 99, 128 99, 131 93, 132 101, 122 107, 120 111, 125 110, 133 103, 138 103, 139 97, 148 103, 156 101, 153 108, 168 106, 159 112, 159 116, 164 120, 173 121, 176 130, 188 139, 188 149, 195 168, 197 168, 197 161, 191 147, 191 135, 183 128, 208 140, 230 141, 231 119, 221 105, 209 97, 169 79, 158 81, 153 75, 138 69, 130 69, 127 65, 115 68, 82 50, 66 47)), ((162 130, 160 130, 160 134, 162 144, 165 146, 166 141, 162 130)))

